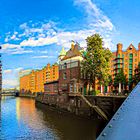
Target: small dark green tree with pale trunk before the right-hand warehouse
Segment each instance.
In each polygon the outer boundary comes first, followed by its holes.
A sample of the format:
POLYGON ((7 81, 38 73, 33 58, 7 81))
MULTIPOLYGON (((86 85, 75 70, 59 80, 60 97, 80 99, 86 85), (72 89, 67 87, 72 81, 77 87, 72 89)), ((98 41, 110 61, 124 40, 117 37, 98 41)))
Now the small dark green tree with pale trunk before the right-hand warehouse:
POLYGON ((123 90, 124 87, 127 85, 127 79, 126 75, 123 72, 123 69, 121 69, 120 72, 114 78, 114 86, 119 87, 119 92, 121 92, 121 85, 123 85, 123 90))

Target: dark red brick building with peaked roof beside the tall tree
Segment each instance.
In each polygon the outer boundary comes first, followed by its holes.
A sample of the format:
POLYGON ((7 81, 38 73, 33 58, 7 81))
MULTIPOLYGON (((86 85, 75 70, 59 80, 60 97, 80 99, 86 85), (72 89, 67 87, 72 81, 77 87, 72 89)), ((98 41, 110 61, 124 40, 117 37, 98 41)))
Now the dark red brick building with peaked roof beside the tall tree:
POLYGON ((80 62, 82 48, 79 44, 72 42, 71 48, 59 61, 59 92, 76 93, 82 92, 80 62))

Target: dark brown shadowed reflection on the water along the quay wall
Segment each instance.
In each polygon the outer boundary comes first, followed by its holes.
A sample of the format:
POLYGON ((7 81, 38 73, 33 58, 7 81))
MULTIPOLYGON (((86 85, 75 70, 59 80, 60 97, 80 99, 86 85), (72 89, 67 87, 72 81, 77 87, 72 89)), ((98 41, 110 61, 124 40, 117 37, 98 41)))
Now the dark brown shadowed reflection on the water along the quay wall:
POLYGON ((56 112, 41 104, 37 104, 36 107, 43 112, 43 120, 46 122, 46 125, 50 129, 55 130, 57 136, 61 140, 96 139, 96 131, 99 129, 102 122, 56 112))

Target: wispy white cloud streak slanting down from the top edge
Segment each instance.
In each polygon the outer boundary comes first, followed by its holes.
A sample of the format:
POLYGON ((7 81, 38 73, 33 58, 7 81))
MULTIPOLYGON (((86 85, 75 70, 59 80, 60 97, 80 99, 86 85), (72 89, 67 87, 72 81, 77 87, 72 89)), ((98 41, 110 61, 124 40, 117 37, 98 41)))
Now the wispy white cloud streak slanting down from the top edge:
MULTIPOLYGON (((111 20, 92 2, 92 0, 75 0, 74 4, 85 9, 89 29, 101 34, 104 38, 104 46, 111 49, 113 46, 112 35, 115 32, 115 27, 111 20)), ((86 33, 88 34, 88 30, 86 33)))

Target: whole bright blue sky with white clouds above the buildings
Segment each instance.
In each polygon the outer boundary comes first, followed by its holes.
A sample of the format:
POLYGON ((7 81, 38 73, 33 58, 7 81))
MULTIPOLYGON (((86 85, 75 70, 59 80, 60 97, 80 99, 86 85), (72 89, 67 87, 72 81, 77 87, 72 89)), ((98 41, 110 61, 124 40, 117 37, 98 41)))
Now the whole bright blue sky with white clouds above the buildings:
POLYGON ((62 46, 99 33, 104 47, 137 48, 140 35, 138 0, 0 0, 0 45, 3 88, 19 85, 23 69, 57 62, 62 46))

